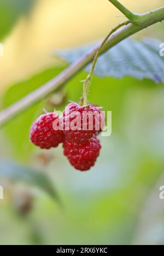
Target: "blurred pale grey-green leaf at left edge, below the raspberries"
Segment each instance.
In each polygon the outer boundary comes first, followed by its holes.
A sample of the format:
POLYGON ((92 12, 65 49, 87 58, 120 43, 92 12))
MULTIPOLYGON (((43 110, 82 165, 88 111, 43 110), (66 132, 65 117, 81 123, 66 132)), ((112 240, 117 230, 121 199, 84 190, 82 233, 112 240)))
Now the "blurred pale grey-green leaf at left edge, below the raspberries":
POLYGON ((50 196, 58 200, 57 193, 48 177, 40 171, 31 167, 14 162, 0 160, 0 177, 13 181, 23 181, 34 185, 49 193, 50 196))

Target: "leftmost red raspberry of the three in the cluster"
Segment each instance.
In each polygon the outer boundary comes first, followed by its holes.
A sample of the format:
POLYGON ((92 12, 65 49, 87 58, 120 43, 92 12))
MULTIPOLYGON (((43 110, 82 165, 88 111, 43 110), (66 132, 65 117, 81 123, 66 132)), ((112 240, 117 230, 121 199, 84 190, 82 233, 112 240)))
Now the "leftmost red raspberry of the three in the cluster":
POLYGON ((40 115, 39 118, 34 121, 30 130, 30 138, 33 144, 40 148, 49 149, 51 147, 57 147, 59 143, 65 140, 65 135, 62 130, 53 129, 55 120, 59 125, 60 119, 56 113, 46 113, 40 115), (56 119, 58 119, 58 121, 56 119))

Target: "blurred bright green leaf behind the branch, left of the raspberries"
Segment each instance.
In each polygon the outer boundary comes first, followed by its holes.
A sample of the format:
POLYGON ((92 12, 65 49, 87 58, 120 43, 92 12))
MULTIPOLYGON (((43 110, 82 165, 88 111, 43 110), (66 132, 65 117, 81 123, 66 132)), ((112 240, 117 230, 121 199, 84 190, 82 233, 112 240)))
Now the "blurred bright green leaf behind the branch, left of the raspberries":
MULTIPOLYGON (((63 67, 50 68, 34 75, 26 81, 11 86, 2 98, 3 108, 8 107, 26 94, 42 86, 45 82, 52 79, 62 71, 63 67)), ((43 113, 44 101, 40 101, 28 108, 24 113, 16 116, 4 127, 4 132, 13 148, 13 154, 16 159, 26 161, 35 148, 30 142, 29 132, 32 122, 38 115, 43 113)))

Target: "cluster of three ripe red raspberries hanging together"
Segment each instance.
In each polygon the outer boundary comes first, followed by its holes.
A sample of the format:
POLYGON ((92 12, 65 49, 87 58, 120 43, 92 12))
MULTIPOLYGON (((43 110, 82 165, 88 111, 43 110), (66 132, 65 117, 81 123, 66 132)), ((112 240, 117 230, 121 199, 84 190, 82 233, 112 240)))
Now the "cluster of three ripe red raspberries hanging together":
POLYGON ((96 106, 81 107, 69 103, 60 119, 56 113, 40 115, 31 126, 31 141, 40 148, 49 149, 63 143, 69 163, 80 171, 89 170, 101 149, 97 135, 102 131, 104 117, 96 106), (62 129, 54 129, 54 122, 62 129))

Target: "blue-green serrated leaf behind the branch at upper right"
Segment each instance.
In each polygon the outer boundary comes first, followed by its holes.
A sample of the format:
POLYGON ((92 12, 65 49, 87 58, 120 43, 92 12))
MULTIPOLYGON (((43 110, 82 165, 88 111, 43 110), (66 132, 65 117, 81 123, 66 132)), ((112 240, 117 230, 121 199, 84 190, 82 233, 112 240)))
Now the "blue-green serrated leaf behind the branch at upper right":
MULTIPOLYGON (((164 58, 159 54, 160 43, 152 39, 139 42, 128 38, 98 58, 95 74, 99 77, 131 76, 139 80, 147 78, 155 82, 164 82, 164 58)), ((93 44, 60 51, 58 54, 72 63, 92 47, 93 44)), ((86 67, 86 71, 90 68, 91 64, 86 67)))

